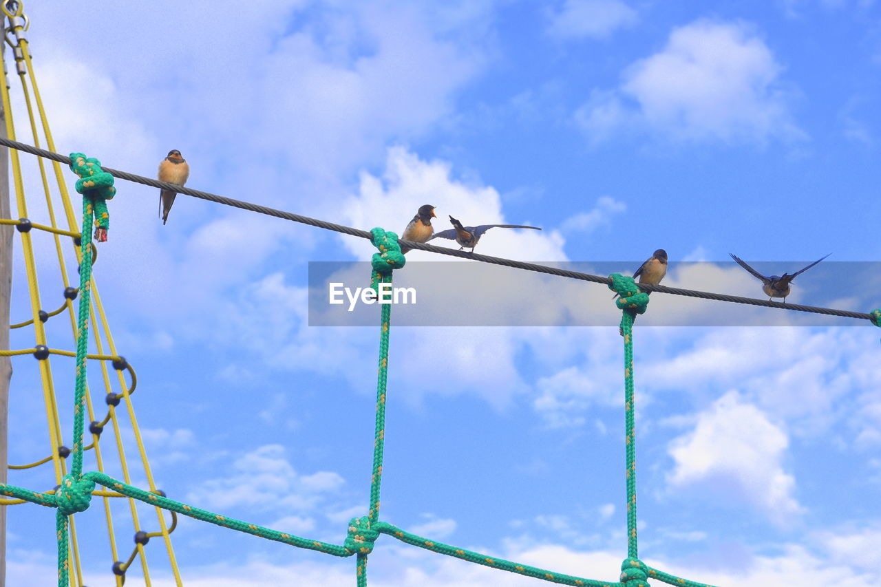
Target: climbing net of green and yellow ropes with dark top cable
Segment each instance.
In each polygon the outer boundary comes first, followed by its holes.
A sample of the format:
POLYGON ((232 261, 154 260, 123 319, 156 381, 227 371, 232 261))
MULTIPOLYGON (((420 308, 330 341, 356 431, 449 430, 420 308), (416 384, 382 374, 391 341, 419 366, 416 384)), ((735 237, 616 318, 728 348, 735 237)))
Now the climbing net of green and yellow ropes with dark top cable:
MULTIPOLYGON (((85 512, 91 505, 93 495, 103 498, 104 507, 107 516, 108 531, 110 533, 111 550, 113 554, 114 564, 113 572, 117 585, 124 583, 125 573, 130 567, 136 556, 140 557, 144 576, 149 584, 149 575, 147 570, 147 561, 144 546, 152 537, 162 537, 164 540, 169 560, 174 570, 174 578, 178 584, 181 583, 180 573, 174 559, 174 551, 171 546, 170 534, 176 526, 176 514, 193 517, 197 520, 216 524, 235 531, 241 531, 253 534, 263 539, 270 539, 284 543, 289 546, 306 548, 315 550, 323 554, 329 554, 337 557, 356 557, 356 577, 359 586, 366 586, 366 564, 368 555, 374 549, 374 543, 381 534, 386 534, 394 539, 398 539, 412 546, 418 546, 426 550, 446 554, 464 561, 469 561, 484 565, 486 567, 506 570, 523 576, 535 577, 551 583, 559 583, 565 585, 587 585, 592 587, 647 587, 648 579, 657 579, 663 583, 673 585, 683 585, 685 587, 698 587, 703 585, 708 587, 706 583, 697 583, 688 579, 671 576, 659 570, 646 565, 640 561, 637 546, 637 509, 636 509, 636 464, 635 464, 635 406, 633 404, 633 318, 638 314, 642 314, 648 308, 648 293, 657 291, 665 294, 688 295, 691 297, 702 297, 707 299, 729 301, 736 303, 746 303, 752 305, 768 306, 772 308, 785 308, 789 310, 799 310, 805 312, 816 312, 833 316, 844 316, 857 319, 867 319, 876 325, 881 325, 881 310, 873 310, 870 313, 851 312, 848 310, 838 310, 833 308, 815 308, 809 306, 795 306, 792 304, 783 304, 781 302, 761 301, 751 298, 740 298, 737 296, 729 296, 725 294, 712 294, 707 292, 694 292, 692 290, 684 290, 666 286, 645 286, 637 285, 633 282, 633 278, 625 277, 617 273, 609 277, 593 276, 575 271, 566 271, 559 268, 549 267, 538 264, 525 264, 522 262, 500 259, 498 257, 475 255, 456 251, 454 249, 444 249, 427 245, 423 243, 414 243, 410 241, 399 241, 397 234, 387 232, 381 228, 374 228, 371 231, 363 231, 352 227, 343 227, 331 224, 322 220, 310 219, 304 216, 293 214, 291 212, 283 212, 273 210, 258 204, 241 202, 233 200, 233 198, 217 196, 208 192, 174 186, 166 182, 158 182, 149 178, 138 175, 129 174, 122 171, 105 168, 100 165, 100 161, 85 157, 83 153, 71 153, 70 157, 65 157, 55 151, 51 133, 48 129, 46 114, 42 107, 40 93, 37 89, 36 79, 33 76, 33 63, 28 52, 28 45, 23 34, 26 29, 26 18, 21 12, 21 4, 7 2, 4 4, 4 12, 10 19, 10 26, 7 29, 7 40, 13 47, 13 55, 16 61, 16 70, 19 74, 19 80, 22 85, 23 93, 26 96, 26 105, 28 116, 31 122, 31 130, 33 134, 34 145, 26 145, 15 140, 14 125, 11 123, 11 101, 8 88, 5 84, 0 84, 0 93, 2 93, 4 112, 6 115, 6 132, 9 138, 0 138, 0 144, 12 147, 11 160, 15 182, 16 202, 18 204, 19 219, 0 219, 0 224, 11 225, 18 229, 22 241, 22 249, 26 260, 27 281, 31 297, 32 318, 22 323, 13 324, 12 328, 22 328, 33 324, 37 345, 33 349, 22 350, 2 350, 0 356, 14 356, 33 354, 40 361, 41 380, 43 383, 44 395, 46 398, 47 414, 49 422, 49 434, 53 446, 56 451, 50 457, 46 457, 41 461, 33 464, 19 465, 11 467, 13 469, 27 468, 39 466, 40 464, 52 461, 55 466, 57 487, 51 491, 32 491, 23 487, 17 487, 0 483, 0 493, 11 499, 0 500, 0 504, 24 503, 30 502, 48 508, 56 509, 56 530, 58 545, 58 585, 65 587, 67 584, 83 584, 82 565, 79 561, 79 554, 76 540, 75 514, 85 512), (9 38, 14 37, 14 41, 9 38), (33 88, 33 95, 36 106, 41 118, 42 127, 45 133, 48 150, 40 147, 38 139, 37 127, 33 115, 32 103, 28 93, 28 83, 33 88), (39 156, 37 160, 40 167, 41 179, 44 190, 46 192, 48 213, 50 224, 41 225, 33 223, 27 218, 27 207, 22 186, 22 175, 19 161, 18 151, 31 152, 39 156), (56 226, 56 218, 53 212, 51 197, 49 196, 48 180, 45 168, 43 166, 43 158, 53 160, 53 168, 58 183, 58 188, 62 195, 64 212, 69 224, 67 230, 56 226), (82 195, 83 213, 82 224, 78 225, 73 211, 68 191, 63 181, 63 174, 60 163, 64 163, 70 167, 70 170, 79 177, 76 183, 76 189, 82 195), (387 403, 387 375, 389 371, 389 334, 391 327, 391 304, 381 304, 380 317, 380 353, 379 353, 379 371, 377 378, 376 393, 376 412, 375 412, 375 432, 374 432, 374 451, 373 451, 373 474, 370 482, 370 501, 369 509, 365 516, 352 518, 348 525, 346 538, 343 543, 330 544, 314 539, 307 539, 291 533, 272 530, 257 524, 249 524, 229 516, 200 509, 195 505, 178 502, 167 497, 161 490, 155 487, 150 472, 150 465, 147 461, 144 447, 135 412, 131 405, 130 396, 137 386, 137 378, 134 369, 129 362, 116 353, 113 338, 107 326, 107 316, 101 305, 100 294, 97 284, 93 278, 93 264, 97 256, 92 244, 93 220, 94 226, 97 227, 98 235, 104 236, 109 228, 109 212, 107 210, 107 200, 115 195, 114 178, 120 177, 133 182, 140 182, 159 188, 174 189, 181 194, 193 197, 201 197, 207 200, 218 202, 220 204, 233 205, 238 208, 269 214, 282 219, 288 219, 300 223, 309 224, 315 227, 321 227, 334 230, 343 234, 351 234, 369 239, 378 252, 372 258, 373 271, 371 274, 371 286, 374 291, 379 294, 379 284, 391 283, 393 273, 396 269, 404 266, 405 258, 401 253, 401 243, 413 249, 424 249, 433 252, 463 256, 486 263, 502 264, 509 267, 523 269, 528 271, 540 271, 553 275, 570 279, 581 279, 596 283, 603 283, 618 294, 616 304, 622 310, 621 331, 623 334, 624 346, 624 388, 625 388, 625 456, 626 456, 626 512, 627 512, 627 556, 621 565, 621 573, 618 581, 601 581, 589 579, 580 576, 570 576, 557 573, 543 568, 531 567, 529 565, 517 563, 514 561, 506 561, 500 558, 479 554, 464 548, 443 544, 433 539, 417 536, 411 532, 405 531, 393 524, 389 524, 380 519, 380 497, 381 497, 381 477, 382 477, 382 458, 385 442, 385 408, 387 403), (59 264, 62 269, 63 276, 63 305, 61 308, 46 312, 41 308, 41 298, 37 287, 36 264, 34 261, 33 244, 31 241, 32 230, 44 231, 53 234, 56 241, 56 249, 58 252, 59 264), (63 249, 61 237, 69 237, 74 246, 79 266, 79 287, 73 288, 68 283, 66 271, 64 269, 63 249), (78 309, 76 314, 73 310, 73 301, 78 300, 78 309), (73 327, 74 340, 76 342, 76 352, 50 348, 47 344, 46 332, 43 327, 50 317, 57 316, 67 310, 70 314, 71 326, 73 327), (104 353, 100 334, 96 333, 95 343, 98 353, 88 353, 89 346, 89 327, 99 331, 100 326, 104 332, 109 353, 104 353), (49 367, 49 359, 51 355, 66 355, 75 357, 76 372, 74 386, 74 411, 73 411, 73 433, 72 446, 67 449, 62 444, 62 432, 60 419, 58 417, 56 395, 52 382, 52 372, 49 367), (102 420, 98 420, 95 416, 95 410, 88 393, 86 384, 86 371, 88 360, 100 361, 100 368, 107 387, 107 416, 102 420), (108 375, 107 363, 115 369, 121 392, 115 393, 110 388, 110 377, 108 375), (130 374, 130 383, 126 383, 123 375, 124 371, 130 374), (122 438, 120 435, 120 423, 117 419, 115 408, 124 402, 129 412, 131 425, 133 427, 138 449, 142 457, 144 472, 149 485, 149 490, 136 487, 131 483, 131 476, 128 465, 124 457, 122 449, 122 438), (93 435, 93 442, 89 446, 84 447, 84 431, 86 412, 90 420, 89 432, 93 435), (104 471, 104 465, 100 452, 100 435, 104 428, 112 424, 115 431, 115 438, 122 462, 123 479, 115 479, 107 475, 104 471), (96 470, 84 472, 83 456, 86 450, 93 450, 96 457, 96 470), (71 457, 70 471, 67 470, 66 457, 71 457), (96 490, 96 486, 104 487, 104 489, 96 490), (110 515, 109 500, 110 498, 126 498, 130 502, 131 514, 136 528, 135 542, 136 546, 128 561, 122 561, 119 557, 118 549, 115 544, 114 529, 110 515), (136 502, 143 502, 153 506, 156 510, 159 520, 159 531, 146 532, 140 530, 140 523, 137 517, 136 502), (171 512, 172 524, 168 526, 163 510, 171 512), (76 583, 74 582, 76 576, 76 583)), ((99 240, 102 240, 99 238, 99 240)))

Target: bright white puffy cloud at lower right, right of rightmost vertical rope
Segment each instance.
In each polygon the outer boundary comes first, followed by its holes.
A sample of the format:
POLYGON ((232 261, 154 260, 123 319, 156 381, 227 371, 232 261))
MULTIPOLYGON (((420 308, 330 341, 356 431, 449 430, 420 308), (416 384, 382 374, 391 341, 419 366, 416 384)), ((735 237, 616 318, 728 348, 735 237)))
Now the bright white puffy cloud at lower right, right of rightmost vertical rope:
POLYGON ((734 483, 737 491, 777 522, 799 514, 796 479, 783 470, 788 436, 737 392, 700 412, 694 429, 670 442, 671 487, 734 483))

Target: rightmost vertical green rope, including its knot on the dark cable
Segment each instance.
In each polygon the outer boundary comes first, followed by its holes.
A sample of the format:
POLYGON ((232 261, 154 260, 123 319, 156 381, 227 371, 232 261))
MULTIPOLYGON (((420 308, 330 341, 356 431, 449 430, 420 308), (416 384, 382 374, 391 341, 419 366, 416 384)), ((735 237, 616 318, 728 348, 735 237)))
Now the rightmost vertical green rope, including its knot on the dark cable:
MULTIPOLYGON (((627 561, 629 561, 631 559, 637 560, 639 557, 636 546, 636 433, 634 431, 633 423, 633 318, 637 314, 645 313, 648 306, 648 294, 640 292, 640 288, 636 286, 632 277, 626 277, 620 273, 612 273, 609 277, 611 279, 609 289, 620 296, 615 303, 618 308, 622 309, 620 328, 621 335, 624 337, 624 418, 626 427, 625 452, 627 459, 627 561)), ((624 579, 622 578, 622 582, 623 581, 624 579)), ((633 587, 635 587, 636 584, 638 583, 634 583, 633 587)), ((628 587, 631 586, 628 585, 628 587)))

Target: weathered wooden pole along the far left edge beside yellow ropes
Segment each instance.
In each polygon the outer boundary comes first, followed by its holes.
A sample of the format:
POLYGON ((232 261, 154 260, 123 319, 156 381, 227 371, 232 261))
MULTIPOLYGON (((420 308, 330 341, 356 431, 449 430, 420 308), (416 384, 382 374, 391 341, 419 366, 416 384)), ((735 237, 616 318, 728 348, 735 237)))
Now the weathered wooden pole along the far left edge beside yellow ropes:
MULTIPOLYGON (((5 19, 0 23, 5 24, 5 19)), ((0 59, 4 62, 6 43, 0 41, 0 59)), ((6 83, 4 72, 0 83, 6 83)), ((6 138, 6 115, 0 107, 0 137, 6 138)), ((0 218, 12 218, 9 203, 9 149, 0 148, 0 218)), ((0 348, 9 349, 9 308, 12 289, 12 235, 15 229, 0 225, 0 348)), ((11 357, 0 357, 0 483, 6 482, 9 422, 9 384, 12 378, 11 357)), ((0 506, 0 587, 6 584, 6 508, 0 506)))

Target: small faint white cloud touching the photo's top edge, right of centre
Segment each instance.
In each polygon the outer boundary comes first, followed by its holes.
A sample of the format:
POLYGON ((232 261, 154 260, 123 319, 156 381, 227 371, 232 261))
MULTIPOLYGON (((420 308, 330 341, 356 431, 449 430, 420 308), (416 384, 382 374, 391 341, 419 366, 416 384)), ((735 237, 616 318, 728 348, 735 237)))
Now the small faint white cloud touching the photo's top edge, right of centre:
POLYGON ((566 0, 550 14, 548 33, 560 40, 605 39, 636 24, 638 14, 620 0, 566 0))

